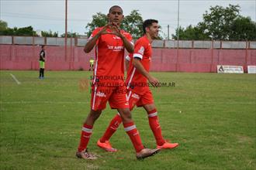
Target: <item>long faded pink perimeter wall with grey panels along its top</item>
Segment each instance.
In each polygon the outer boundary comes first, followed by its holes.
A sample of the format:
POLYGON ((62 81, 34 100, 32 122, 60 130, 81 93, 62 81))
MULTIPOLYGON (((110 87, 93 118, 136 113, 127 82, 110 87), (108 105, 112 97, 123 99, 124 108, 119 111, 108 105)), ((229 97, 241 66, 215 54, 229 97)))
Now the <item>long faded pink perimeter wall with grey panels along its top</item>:
MULTIPOLYGON (((0 36, 0 70, 38 70, 40 46, 46 45, 46 70, 88 70, 87 39, 0 36), (66 51, 66 54, 65 54, 66 51)), ((256 42, 154 41, 151 71, 216 73, 216 65, 256 65, 256 42)))

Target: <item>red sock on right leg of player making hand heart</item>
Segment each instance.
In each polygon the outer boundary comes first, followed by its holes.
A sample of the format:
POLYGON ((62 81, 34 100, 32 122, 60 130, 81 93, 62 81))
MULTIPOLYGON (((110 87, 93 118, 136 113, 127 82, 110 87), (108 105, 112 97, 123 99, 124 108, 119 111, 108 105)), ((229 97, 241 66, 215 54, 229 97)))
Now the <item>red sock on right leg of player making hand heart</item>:
POLYGON ((132 141, 133 147, 135 148, 136 152, 139 152, 142 149, 144 149, 144 145, 142 145, 142 142, 140 139, 139 131, 137 131, 137 128, 135 124, 133 124, 133 121, 126 124, 123 123, 123 127, 126 133, 129 135, 130 140, 132 141))

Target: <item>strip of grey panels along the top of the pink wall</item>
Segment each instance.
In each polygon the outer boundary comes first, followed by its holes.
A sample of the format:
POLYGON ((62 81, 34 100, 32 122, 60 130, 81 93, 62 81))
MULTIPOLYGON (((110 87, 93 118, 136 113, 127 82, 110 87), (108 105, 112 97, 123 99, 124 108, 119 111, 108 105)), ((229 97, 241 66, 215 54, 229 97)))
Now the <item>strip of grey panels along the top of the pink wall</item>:
MULTIPOLYGON (((86 38, 67 38, 67 46, 85 46, 86 38)), ((65 39, 59 37, 0 36, 0 44, 64 46, 65 39)), ((256 41, 193 41, 154 40, 154 48, 170 49, 256 49, 256 41)))

